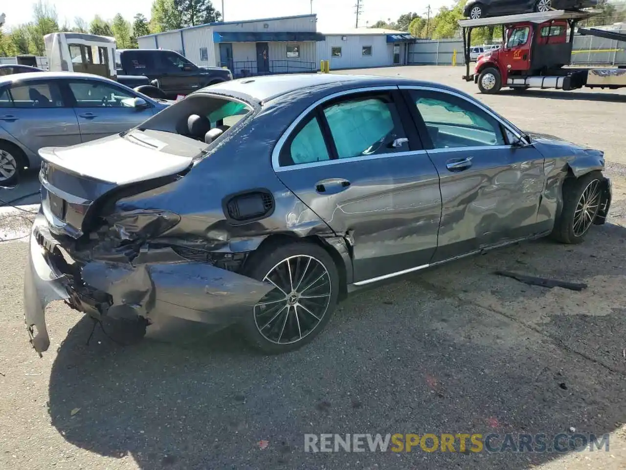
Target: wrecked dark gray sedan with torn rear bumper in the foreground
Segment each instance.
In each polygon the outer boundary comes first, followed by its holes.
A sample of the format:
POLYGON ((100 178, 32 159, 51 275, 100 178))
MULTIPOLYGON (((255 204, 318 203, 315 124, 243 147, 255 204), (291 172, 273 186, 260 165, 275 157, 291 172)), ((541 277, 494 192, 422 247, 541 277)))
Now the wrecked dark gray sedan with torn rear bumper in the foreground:
POLYGON ((603 152, 397 77, 229 81, 40 153, 24 286, 39 353, 61 299, 141 336, 236 323, 293 350, 351 291, 525 239, 579 243, 611 201, 603 152))

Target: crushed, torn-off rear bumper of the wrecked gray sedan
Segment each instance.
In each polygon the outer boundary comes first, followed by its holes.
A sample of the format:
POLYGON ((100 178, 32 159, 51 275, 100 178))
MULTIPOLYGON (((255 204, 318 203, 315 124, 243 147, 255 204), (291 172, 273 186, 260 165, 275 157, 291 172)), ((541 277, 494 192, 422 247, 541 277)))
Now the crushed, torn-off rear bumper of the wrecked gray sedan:
POLYGON ((65 300, 95 320, 143 323, 146 337, 178 341, 199 324, 219 329, 237 322, 272 288, 211 264, 188 261, 172 249, 148 249, 133 264, 81 263, 64 251, 40 212, 29 240, 24 320, 39 355, 50 345, 45 309, 54 300, 65 300))

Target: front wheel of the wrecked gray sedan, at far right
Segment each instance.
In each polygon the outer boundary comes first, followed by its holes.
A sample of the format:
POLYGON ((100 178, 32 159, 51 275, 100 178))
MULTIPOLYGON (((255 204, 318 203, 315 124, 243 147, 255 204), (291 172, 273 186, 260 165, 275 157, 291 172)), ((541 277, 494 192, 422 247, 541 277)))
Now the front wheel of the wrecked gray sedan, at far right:
POLYGON ((552 231, 562 243, 581 243, 593 225, 602 202, 602 172, 593 171, 563 183, 563 210, 552 231))

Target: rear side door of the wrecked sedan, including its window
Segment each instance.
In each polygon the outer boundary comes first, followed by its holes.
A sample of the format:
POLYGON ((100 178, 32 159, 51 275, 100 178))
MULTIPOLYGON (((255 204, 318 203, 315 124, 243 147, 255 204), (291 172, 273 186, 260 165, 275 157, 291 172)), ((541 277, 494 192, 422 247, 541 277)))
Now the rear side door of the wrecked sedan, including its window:
POLYGON ((397 87, 327 98, 291 125, 272 160, 280 180, 349 239, 357 285, 429 263, 439 178, 397 87))

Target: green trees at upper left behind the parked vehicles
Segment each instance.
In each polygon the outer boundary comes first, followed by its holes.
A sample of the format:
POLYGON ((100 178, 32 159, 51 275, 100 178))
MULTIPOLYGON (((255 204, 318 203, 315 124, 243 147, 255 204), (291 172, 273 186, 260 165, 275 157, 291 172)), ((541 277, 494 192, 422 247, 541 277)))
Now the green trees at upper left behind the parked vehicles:
POLYGON ((73 24, 59 23, 53 4, 38 0, 33 5, 33 19, 13 28, 0 29, 0 57, 18 54, 46 55, 43 36, 59 31, 91 33, 112 36, 120 49, 136 48, 137 38, 151 33, 197 26, 220 21, 222 14, 213 8, 211 0, 155 0, 150 11, 151 18, 137 13, 132 21, 120 13, 113 19, 96 15, 91 21, 76 17, 73 24))

